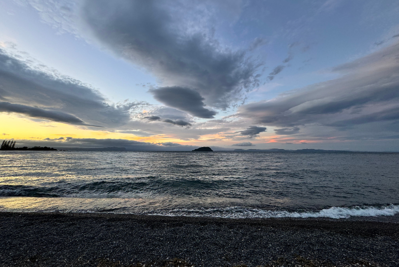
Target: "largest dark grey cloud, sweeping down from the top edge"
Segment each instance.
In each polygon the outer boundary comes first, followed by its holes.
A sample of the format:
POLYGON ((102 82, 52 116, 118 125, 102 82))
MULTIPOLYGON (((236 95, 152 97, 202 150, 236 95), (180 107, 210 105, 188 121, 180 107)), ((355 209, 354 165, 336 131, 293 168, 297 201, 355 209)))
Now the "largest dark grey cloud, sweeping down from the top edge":
MULTIPOLYGON (((260 65, 244 51, 222 46, 200 23, 195 28, 188 27, 193 25, 188 20, 196 16, 193 13, 196 4, 182 1, 170 5, 154 0, 86 1, 81 14, 95 40, 153 73, 163 86, 191 88, 188 90, 198 92, 208 106, 226 109, 241 99, 242 90, 258 85, 256 70, 260 65)), ((184 94, 181 99, 184 97, 190 94, 184 94)), ((159 95, 157 100, 178 109, 184 106, 181 110, 193 116, 214 115, 203 106, 197 105, 193 110, 165 95, 159 95)))

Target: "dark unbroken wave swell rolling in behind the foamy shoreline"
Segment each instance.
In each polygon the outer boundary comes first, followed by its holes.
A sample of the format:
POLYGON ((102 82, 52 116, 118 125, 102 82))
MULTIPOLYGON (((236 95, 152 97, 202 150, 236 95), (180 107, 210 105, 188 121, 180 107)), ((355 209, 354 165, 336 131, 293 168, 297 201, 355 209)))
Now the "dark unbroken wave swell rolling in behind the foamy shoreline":
MULTIPOLYGON (((239 183, 221 179, 160 179, 155 176, 129 181, 50 182, 38 185, 0 184, 0 197, 80 197, 80 198, 136 198, 143 195, 166 194, 171 196, 203 196, 212 190, 215 196, 221 191, 231 193, 239 183), (230 189, 230 191, 228 191, 230 189)), ((242 194, 241 194, 242 195, 242 194)), ((236 198, 240 198, 236 194, 236 198)))

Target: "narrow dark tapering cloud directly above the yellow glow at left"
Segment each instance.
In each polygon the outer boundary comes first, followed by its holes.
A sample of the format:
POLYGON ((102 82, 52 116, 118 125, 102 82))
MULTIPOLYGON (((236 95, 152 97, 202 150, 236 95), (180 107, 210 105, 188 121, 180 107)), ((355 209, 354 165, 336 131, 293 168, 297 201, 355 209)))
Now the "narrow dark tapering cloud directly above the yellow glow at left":
MULTIPOLYGON (((57 122, 64 122, 76 125, 87 125, 81 119, 67 113, 63 113, 55 110, 44 110, 41 108, 12 104, 10 102, 0 101, 0 112, 14 112, 24 114, 29 117, 44 118, 57 122)), ((89 125, 93 126, 93 125, 89 125)), ((101 126, 100 126, 101 127, 101 126)))

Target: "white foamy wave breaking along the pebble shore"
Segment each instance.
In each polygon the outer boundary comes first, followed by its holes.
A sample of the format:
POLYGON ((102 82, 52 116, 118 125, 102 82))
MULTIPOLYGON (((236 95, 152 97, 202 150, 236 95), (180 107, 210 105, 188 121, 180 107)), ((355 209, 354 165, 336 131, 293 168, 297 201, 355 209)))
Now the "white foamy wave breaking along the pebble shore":
POLYGON ((154 212, 149 215, 188 216, 188 217, 220 217, 220 218, 333 218, 394 216, 399 214, 399 205, 388 206, 354 206, 330 207, 319 211, 289 212, 279 210, 262 210, 241 207, 212 209, 173 209, 154 212))

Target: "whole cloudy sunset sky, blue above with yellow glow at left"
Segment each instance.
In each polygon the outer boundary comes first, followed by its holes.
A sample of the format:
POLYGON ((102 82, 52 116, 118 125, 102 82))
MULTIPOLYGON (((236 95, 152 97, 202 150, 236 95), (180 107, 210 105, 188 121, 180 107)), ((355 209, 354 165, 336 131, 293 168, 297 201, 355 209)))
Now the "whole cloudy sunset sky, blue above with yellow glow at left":
POLYGON ((399 151, 397 0, 0 0, 16 147, 399 151))

